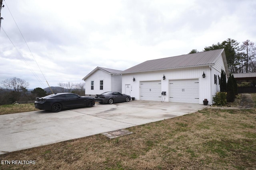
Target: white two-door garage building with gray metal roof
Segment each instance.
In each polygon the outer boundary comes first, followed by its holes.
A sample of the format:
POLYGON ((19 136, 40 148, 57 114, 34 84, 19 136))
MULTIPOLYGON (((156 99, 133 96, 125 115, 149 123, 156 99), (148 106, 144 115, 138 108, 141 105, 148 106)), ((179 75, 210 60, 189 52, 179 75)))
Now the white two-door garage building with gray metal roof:
POLYGON ((212 105, 221 70, 229 75, 224 49, 145 61, 122 74, 122 93, 135 100, 212 105))

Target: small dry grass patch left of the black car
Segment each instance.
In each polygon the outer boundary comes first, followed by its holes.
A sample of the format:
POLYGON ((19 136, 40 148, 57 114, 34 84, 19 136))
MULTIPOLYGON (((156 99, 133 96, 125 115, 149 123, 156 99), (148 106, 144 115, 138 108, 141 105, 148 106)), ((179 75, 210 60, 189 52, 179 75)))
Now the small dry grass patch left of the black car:
POLYGON ((34 103, 32 104, 8 104, 0 106, 0 115, 20 113, 26 111, 36 111, 34 103))

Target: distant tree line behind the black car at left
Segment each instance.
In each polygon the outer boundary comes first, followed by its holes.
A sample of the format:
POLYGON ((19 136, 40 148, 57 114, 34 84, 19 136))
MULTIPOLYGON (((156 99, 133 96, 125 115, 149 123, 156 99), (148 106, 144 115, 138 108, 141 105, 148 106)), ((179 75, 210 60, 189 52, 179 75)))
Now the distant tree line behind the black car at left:
MULTIPOLYGON (((33 102, 36 97, 44 97, 51 92, 46 92, 44 89, 38 87, 32 91, 28 91, 29 83, 20 78, 10 78, 0 82, 0 105, 12 104, 14 102, 33 102)), ((58 83, 58 88, 54 88, 54 93, 72 92, 80 96, 85 94, 85 82, 82 83, 58 83)))

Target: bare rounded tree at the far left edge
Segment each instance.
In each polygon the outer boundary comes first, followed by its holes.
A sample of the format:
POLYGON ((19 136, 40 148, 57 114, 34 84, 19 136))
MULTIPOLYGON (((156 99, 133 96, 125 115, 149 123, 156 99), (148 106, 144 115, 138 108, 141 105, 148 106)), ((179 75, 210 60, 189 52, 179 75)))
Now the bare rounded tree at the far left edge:
POLYGON ((10 78, 3 80, 1 82, 2 88, 6 89, 9 92, 9 100, 10 102, 15 102, 20 99, 22 94, 26 94, 27 87, 29 83, 20 78, 10 78))

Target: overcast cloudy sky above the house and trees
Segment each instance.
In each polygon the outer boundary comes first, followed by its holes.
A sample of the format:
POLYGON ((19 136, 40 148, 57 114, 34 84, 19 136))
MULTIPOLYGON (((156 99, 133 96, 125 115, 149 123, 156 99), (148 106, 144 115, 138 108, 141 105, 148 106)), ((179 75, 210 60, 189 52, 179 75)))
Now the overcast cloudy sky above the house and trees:
POLYGON ((29 89, 48 87, 46 80, 50 86, 80 83, 97 66, 125 70, 228 38, 256 43, 255 0, 3 0, 3 5, 0 82, 17 77, 29 82, 29 89))

